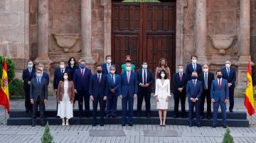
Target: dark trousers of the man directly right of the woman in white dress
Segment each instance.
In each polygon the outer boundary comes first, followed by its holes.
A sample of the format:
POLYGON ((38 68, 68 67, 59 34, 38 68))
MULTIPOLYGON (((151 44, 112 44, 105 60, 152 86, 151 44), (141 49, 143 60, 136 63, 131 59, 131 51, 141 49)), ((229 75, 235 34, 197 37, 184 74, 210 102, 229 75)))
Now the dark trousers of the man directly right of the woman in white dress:
POLYGON ((178 103, 181 99, 181 115, 185 115, 185 102, 186 102, 186 93, 175 93, 174 94, 174 114, 178 115, 178 103))

